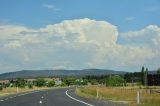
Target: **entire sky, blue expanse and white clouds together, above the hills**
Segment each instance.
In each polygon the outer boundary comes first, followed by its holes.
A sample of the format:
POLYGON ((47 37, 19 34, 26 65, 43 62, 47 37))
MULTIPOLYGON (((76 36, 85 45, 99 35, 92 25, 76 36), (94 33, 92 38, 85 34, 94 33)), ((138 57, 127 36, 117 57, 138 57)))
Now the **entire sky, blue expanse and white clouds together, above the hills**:
POLYGON ((159 0, 1 0, 0 73, 160 66, 159 0))

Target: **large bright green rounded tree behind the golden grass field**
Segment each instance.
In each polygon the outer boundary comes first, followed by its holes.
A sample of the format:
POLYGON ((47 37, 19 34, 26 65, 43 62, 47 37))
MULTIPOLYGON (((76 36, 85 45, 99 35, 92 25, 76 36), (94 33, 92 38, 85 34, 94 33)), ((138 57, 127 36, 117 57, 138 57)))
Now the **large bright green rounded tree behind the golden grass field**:
POLYGON ((125 80, 119 75, 113 75, 106 79, 106 86, 123 86, 125 80))

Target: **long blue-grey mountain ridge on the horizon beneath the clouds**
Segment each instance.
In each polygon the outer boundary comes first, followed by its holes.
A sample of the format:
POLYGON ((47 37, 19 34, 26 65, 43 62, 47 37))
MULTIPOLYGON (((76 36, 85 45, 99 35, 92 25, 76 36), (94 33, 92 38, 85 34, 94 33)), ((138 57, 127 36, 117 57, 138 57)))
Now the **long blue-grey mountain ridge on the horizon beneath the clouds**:
POLYGON ((50 76, 86 76, 86 75, 109 75, 109 74, 125 74, 124 71, 114 71, 108 69, 84 69, 84 70, 22 70, 17 72, 9 72, 0 74, 0 79, 14 78, 36 78, 50 76))

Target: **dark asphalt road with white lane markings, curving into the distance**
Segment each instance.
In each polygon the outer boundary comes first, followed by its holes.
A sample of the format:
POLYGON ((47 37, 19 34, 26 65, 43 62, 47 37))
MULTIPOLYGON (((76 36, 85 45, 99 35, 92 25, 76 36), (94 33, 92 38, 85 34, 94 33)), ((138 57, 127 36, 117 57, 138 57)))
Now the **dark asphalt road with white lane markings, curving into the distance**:
POLYGON ((73 88, 30 92, 0 98, 0 106, 124 106, 77 96, 73 88))

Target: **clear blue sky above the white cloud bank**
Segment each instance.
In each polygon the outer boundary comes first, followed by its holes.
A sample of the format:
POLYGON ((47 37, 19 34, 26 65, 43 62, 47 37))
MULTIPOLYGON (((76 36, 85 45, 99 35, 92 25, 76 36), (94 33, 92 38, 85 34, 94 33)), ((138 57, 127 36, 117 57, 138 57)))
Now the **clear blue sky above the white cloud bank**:
POLYGON ((159 11, 159 0, 1 0, 0 21, 39 28, 67 19, 91 18, 128 31, 159 25, 159 11))

